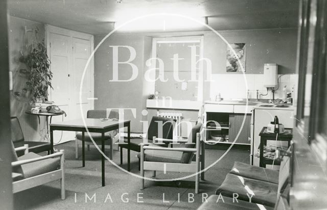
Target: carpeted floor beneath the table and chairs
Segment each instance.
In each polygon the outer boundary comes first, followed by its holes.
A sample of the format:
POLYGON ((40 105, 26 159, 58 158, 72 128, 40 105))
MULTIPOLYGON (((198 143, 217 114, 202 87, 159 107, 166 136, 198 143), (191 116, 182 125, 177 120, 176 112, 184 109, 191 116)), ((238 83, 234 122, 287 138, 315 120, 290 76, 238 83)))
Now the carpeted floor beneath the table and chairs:
MULTIPOLYGON (((101 156, 94 146, 91 146, 90 151, 85 151, 84 168, 81 167, 81 157, 75 159, 74 141, 55 148, 65 150, 66 199, 60 199, 58 180, 16 193, 15 209, 196 209, 201 205, 202 197, 214 194, 233 162, 249 163, 248 150, 231 149, 221 161, 205 172, 205 180, 200 181, 199 194, 194 193, 194 177, 167 182, 145 180, 145 189, 139 190, 140 178, 123 172, 108 161, 105 163, 106 186, 101 187, 101 156), (85 197, 94 195, 95 199, 85 201, 85 197)), ((205 165, 213 164, 225 151, 207 149, 205 165)), ((131 151, 131 172, 139 174, 136 154, 131 151)), ((114 150, 113 162, 120 163, 119 151, 114 150)), ((121 167, 127 168, 127 150, 124 150, 124 164, 121 167)), ((151 177, 151 174, 149 171, 146 176, 151 177)), ((157 172, 156 175, 159 179, 168 179, 188 174, 157 172)))

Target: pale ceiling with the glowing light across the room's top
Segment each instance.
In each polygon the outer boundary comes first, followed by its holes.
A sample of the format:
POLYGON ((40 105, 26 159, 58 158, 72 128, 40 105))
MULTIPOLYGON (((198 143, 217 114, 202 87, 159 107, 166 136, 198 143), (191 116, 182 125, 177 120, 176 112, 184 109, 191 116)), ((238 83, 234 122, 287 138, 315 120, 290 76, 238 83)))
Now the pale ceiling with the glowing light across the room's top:
POLYGON ((297 27, 298 0, 8 0, 9 14, 90 34, 107 34, 120 23, 154 13, 122 31, 169 32, 297 27), (203 21, 204 22, 204 21, 203 21))

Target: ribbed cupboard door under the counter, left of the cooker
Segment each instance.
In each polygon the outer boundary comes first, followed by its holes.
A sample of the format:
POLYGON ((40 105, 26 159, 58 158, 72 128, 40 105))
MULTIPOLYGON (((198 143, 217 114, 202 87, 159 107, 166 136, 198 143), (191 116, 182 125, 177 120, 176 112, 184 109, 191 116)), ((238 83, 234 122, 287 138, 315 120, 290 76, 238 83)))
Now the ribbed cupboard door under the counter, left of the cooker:
MULTIPOLYGON (((238 133, 241 130, 243 120, 244 120, 244 114, 229 115, 229 132, 228 132, 229 142, 233 142, 236 139, 238 133)), ((251 115, 246 114, 244 126, 235 143, 251 144, 251 142, 249 141, 250 131, 251 131, 251 115)))

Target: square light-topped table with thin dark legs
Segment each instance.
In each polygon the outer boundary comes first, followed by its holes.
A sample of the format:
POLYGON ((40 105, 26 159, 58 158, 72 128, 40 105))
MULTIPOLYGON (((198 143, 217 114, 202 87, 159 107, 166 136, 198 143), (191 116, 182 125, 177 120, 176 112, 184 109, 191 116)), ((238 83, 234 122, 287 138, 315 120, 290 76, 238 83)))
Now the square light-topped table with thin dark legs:
MULTIPOLYGON (((84 132, 86 131, 86 127, 89 132, 101 133, 102 141, 101 141, 101 150, 104 153, 104 141, 106 132, 110 130, 115 130, 119 128, 119 123, 122 123, 122 127, 127 127, 127 139, 130 142, 130 120, 124 120, 123 122, 119 121, 102 121, 100 119, 91 119, 86 118, 77 120, 69 120, 65 122, 51 123, 50 124, 50 144, 51 144, 51 153, 53 153, 53 131, 54 130, 66 130, 66 131, 75 131, 82 132, 82 166, 85 166, 85 141, 84 141, 84 132)), ((112 150, 111 150, 112 151, 112 150)), ((128 152, 130 154, 130 151, 128 152)), ((130 168, 130 163, 128 163, 128 168, 130 168)), ((105 174, 104 174, 104 156, 101 158, 101 172, 102 172, 102 186, 105 186, 105 174)))

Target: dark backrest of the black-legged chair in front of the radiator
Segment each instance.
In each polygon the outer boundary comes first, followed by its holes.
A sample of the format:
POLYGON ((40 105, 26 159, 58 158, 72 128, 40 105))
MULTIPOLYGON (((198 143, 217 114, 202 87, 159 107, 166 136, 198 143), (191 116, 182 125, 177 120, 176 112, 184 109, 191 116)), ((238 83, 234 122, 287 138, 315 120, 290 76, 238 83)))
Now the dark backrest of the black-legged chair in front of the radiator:
POLYGON ((176 120, 166 117, 153 116, 148 128, 147 138, 153 140, 153 137, 173 139, 173 130, 175 127, 176 120), (158 126, 162 122, 162 137, 159 136, 158 126), (158 123, 160 122, 160 123, 158 123))

